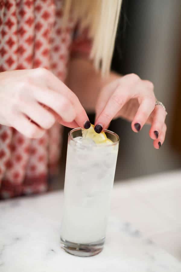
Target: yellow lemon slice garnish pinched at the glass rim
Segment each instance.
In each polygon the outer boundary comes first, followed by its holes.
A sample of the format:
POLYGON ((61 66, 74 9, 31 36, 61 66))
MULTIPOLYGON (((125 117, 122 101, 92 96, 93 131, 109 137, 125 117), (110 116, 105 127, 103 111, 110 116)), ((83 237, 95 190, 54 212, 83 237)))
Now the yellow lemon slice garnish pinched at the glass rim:
POLYGON ((82 137, 90 138, 96 144, 112 144, 113 142, 107 138, 104 132, 96 133, 94 130, 94 125, 91 125, 89 129, 82 129, 82 137))

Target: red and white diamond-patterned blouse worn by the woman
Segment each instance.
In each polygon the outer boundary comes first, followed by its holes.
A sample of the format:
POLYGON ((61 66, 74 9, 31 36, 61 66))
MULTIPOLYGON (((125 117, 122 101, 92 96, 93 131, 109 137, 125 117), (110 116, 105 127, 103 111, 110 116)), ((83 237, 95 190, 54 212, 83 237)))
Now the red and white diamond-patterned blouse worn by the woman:
MULTIPOLYGON (((89 53, 86 32, 71 18, 62 31, 62 0, 0 0, 0 72, 44 67, 65 80, 72 53, 89 53)), ((8 106, 8 105, 7 105, 8 106)), ((62 144, 56 123, 41 139, 0 125, 0 199, 40 193, 56 173, 62 144)))

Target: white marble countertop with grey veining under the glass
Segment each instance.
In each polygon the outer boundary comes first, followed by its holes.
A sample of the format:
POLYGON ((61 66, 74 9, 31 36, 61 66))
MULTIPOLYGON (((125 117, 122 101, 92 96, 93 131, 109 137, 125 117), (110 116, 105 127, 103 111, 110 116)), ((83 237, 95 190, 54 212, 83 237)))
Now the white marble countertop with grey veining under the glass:
POLYGON ((180 196, 181 172, 116 183, 104 250, 89 258, 60 248, 62 191, 0 202, 0 271, 180 272, 180 196))

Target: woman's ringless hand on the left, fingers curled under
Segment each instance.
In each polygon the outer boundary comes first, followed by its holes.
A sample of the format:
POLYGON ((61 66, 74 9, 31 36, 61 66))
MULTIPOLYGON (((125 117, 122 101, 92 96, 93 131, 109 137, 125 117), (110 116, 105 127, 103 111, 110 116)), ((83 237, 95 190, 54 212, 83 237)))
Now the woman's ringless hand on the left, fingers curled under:
POLYGON ((0 73, 1 125, 14 127, 29 138, 40 138, 56 119, 71 128, 83 128, 88 121, 77 96, 50 71, 37 68, 0 73))

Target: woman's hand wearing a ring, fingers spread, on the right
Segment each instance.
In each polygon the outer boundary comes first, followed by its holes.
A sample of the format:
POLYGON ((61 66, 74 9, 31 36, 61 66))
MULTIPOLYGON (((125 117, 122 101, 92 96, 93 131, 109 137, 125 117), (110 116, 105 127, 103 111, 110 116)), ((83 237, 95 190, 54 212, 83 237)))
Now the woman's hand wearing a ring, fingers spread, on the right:
POLYGON ((105 86, 96 105, 95 131, 100 133, 113 118, 123 117, 132 121, 132 130, 140 131, 145 123, 151 124, 150 137, 154 147, 160 148, 167 130, 166 111, 155 106, 154 86, 135 74, 120 77, 105 86))

